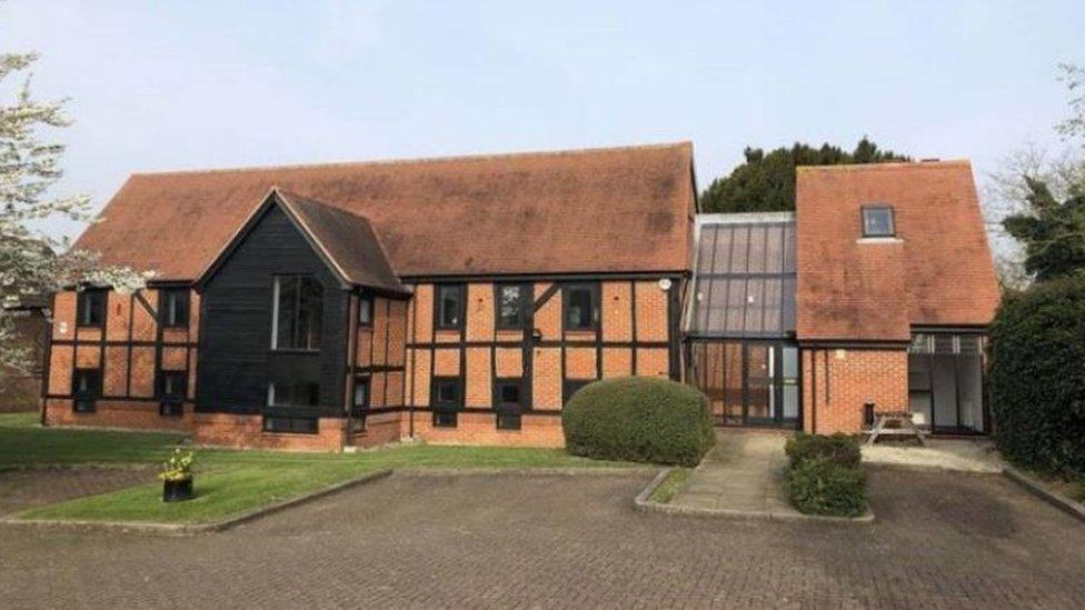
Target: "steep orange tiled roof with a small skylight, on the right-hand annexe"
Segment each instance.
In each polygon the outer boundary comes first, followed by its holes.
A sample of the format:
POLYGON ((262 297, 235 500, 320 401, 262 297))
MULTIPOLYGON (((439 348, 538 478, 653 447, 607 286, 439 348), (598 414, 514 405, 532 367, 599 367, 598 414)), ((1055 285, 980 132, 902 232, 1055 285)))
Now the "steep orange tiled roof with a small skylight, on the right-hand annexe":
POLYGON ((991 322, 998 286, 967 161, 800 167, 796 217, 800 341, 991 322), (897 239, 862 239, 875 203, 894 208, 897 239))

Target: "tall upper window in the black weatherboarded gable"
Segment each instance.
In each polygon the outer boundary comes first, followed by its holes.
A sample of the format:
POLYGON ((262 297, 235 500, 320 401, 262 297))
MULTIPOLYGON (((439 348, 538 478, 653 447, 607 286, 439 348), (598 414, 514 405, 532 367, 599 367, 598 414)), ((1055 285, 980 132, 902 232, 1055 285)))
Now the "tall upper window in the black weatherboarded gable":
POLYGON ((317 351, 323 287, 309 276, 277 276, 272 296, 271 349, 317 351))

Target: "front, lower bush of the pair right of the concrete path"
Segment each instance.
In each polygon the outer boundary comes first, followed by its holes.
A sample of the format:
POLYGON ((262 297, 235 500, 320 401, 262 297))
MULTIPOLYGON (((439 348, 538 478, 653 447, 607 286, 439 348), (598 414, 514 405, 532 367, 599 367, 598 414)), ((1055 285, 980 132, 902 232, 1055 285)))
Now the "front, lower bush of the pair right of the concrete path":
POLYGON ((866 510, 866 478, 827 458, 809 458, 792 466, 785 480, 787 498, 808 514, 858 517, 866 510))

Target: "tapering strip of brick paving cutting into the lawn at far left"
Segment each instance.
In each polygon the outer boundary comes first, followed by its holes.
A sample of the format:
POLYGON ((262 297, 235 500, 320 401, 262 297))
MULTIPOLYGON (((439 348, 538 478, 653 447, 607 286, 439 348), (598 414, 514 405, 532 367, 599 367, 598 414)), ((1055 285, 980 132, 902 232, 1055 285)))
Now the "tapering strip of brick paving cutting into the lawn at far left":
POLYGON ((0 516, 152 481, 153 469, 58 467, 0 471, 0 516))

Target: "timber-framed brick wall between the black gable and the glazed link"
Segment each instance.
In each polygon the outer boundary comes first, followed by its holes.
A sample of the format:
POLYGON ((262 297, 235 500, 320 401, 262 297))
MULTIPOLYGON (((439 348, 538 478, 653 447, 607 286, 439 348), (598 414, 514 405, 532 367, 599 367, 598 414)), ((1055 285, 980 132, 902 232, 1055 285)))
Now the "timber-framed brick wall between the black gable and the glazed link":
MULTIPOLYGON (((536 282, 531 299, 538 300, 553 286, 536 282)), ((532 348, 531 398, 538 411, 560 411, 563 380, 595 380, 629 374, 668 377, 670 351, 666 347, 607 346, 599 351, 590 343, 665 342, 669 341, 668 292, 656 281, 614 280, 599 282, 600 332, 570 331, 563 328, 563 293, 553 294, 535 312, 535 328, 542 342, 566 341, 589 344, 536 344, 532 348), (634 323, 636 320, 636 323, 634 323)), ((415 434, 429 442, 461 442, 468 444, 560 446, 560 418, 525 413, 521 429, 497 430, 496 416, 485 412, 461 412, 456 428, 431 426, 430 384, 434 376, 460 377, 465 388, 465 407, 488 409, 492 406, 491 378, 517 378, 524 374, 521 331, 497 330, 494 319, 494 284, 466 284, 465 328, 457 331, 435 331, 434 286, 414 287, 415 296, 407 312, 407 402, 414 411, 415 434), (462 356, 460 341, 465 346, 462 356), (504 344, 507 343, 507 344, 504 344)), ((673 287, 671 290, 676 290, 673 287)), ((401 428, 410 429, 405 416, 401 428)))

